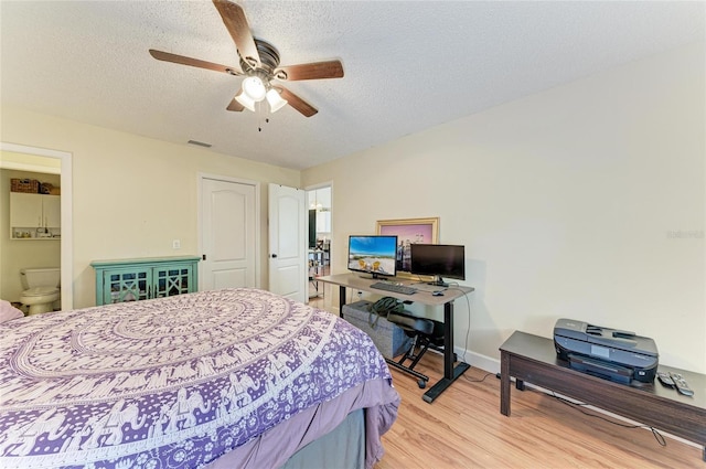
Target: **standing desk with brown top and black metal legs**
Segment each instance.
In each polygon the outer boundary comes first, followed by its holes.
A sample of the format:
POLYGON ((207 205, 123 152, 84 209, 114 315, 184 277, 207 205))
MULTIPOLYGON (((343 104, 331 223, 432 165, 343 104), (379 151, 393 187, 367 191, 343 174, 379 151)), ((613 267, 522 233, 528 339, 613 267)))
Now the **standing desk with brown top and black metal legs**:
MULTIPOLYGON (((434 399, 451 385, 466 370, 471 367, 468 363, 459 362, 454 366, 453 353, 453 300, 474 290, 472 287, 453 286, 443 291, 443 296, 435 297, 431 292, 418 290, 413 295, 397 294, 395 291, 378 290, 371 288, 371 285, 382 279, 364 278, 362 274, 338 274, 325 277, 317 277, 317 280, 339 286, 339 315, 343 317, 343 306, 345 305, 345 289, 354 291, 368 291, 372 294, 393 297, 403 301, 414 301, 429 306, 443 305, 443 377, 439 380, 421 398, 427 403, 434 399)), ((411 285, 413 280, 395 279, 395 281, 411 285)))

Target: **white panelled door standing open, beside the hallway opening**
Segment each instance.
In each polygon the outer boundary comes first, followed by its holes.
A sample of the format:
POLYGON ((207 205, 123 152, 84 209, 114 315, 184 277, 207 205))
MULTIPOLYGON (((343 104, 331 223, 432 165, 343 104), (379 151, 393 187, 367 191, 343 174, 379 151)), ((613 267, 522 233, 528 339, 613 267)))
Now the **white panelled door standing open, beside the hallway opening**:
POLYGON ((269 290, 307 301, 307 194, 269 184, 269 290))

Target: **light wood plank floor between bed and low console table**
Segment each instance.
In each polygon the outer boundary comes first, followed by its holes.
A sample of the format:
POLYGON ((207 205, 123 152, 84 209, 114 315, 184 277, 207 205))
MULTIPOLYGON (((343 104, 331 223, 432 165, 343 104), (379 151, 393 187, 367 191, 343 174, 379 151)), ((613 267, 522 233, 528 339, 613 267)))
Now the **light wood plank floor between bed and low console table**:
MULTIPOLYGON (((310 302, 312 306, 319 301, 310 302)), ((442 361, 429 352, 417 365, 436 383, 442 361)), ((375 469, 443 468, 699 468, 702 449, 673 438, 661 446, 644 428, 625 428, 538 391, 512 387, 512 415, 500 413, 500 380, 471 367, 434 403, 406 373, 392 370, 402 396, 397 420, 383 436, 375 469), (483 380, 483 377, 485 379, 483 380), (481 381, 483 380, 483 381, 481 381)), ((706 423, 704 423, 706 425, 706 423)))

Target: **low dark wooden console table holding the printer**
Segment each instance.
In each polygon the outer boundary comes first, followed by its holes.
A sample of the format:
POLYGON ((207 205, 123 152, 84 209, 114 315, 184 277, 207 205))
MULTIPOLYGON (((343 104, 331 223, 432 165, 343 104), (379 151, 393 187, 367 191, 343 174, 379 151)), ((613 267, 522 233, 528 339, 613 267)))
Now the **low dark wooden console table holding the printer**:
POLYGON ((694 396, 654 383, 613 383, 569 367, 559 360, 554 341, 516 331, 500 348, 500 412, 510 416, 510 377, 515 387, 524 382, 595 405, 641 424, 664 429, 704 447, 706 461, 706 375, 660 365, 660 371, 681 373, 694 396))

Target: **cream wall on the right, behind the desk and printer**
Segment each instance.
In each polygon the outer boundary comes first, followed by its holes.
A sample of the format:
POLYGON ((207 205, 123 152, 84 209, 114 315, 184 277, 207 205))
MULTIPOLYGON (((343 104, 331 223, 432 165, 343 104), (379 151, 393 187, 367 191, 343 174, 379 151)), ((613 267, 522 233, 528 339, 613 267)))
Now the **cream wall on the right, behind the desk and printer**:
POLYGON ((670 51, 304 171, 304 186, 333 183, 333 271, 345 271, 349 234, 439 216, 477 289, 456 302, 471 363, 499 359, 514 330, 550 338, 565 317, 652 337, 662 363, 706 372, 704 52, 670 51))

